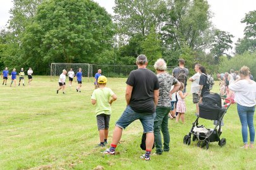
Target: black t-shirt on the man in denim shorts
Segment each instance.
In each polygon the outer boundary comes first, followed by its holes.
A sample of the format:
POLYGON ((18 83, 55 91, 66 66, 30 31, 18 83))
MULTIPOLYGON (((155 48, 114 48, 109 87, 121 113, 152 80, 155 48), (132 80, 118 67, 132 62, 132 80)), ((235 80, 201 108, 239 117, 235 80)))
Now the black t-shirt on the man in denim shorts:
POLYGON ((131 71, 126 84, 133 86, 130 106, 139 113, 155 113, 154 90, 159 89, 159 81, 149 69, 131 71))

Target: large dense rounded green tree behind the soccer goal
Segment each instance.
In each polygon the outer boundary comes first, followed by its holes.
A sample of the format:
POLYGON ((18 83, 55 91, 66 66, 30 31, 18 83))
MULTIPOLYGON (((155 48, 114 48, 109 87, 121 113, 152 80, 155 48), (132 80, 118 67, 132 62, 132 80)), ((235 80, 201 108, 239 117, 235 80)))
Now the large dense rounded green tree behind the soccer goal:
POLYGON ((97 63, 97 56, 111 48, 113 35, 111 15, 99 4, 50 0, 39 6, 22 45, 25 59, 39 67, 51 62, 97 63))

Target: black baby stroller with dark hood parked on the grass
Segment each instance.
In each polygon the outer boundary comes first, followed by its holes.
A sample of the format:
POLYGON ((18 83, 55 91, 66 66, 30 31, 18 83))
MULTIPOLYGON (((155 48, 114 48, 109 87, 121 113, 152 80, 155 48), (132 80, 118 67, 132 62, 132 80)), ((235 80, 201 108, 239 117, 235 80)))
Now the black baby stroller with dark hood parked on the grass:
MULTIPOLYGON (((207 93, 207 92, 205 92, 207 93)), ((204 94, 204 98, 202 99, 202 103, 199 104, 199 116, 193 122, 192 128, 188 135, 185 135, 183 138, 183 143, 186 145, 190 145, 191 137, 192 140, 198 140, 198 147, 206 147, 209 149, 210 142, 219 142, 219 146, 222 147, 226 144, 226 139, 221 136, 221 122, 222 118, 228 110, 228 105, 226 108, 222 107, 221 104, 221 96, 217 93, 207 93, 204 94), (216 120, 216 126, 214 129, 205 128, 204 125, 198 125, 198 119, 204 118, 207 120, 216 120), (218 127, 218 128, 217 128, 218 127)))

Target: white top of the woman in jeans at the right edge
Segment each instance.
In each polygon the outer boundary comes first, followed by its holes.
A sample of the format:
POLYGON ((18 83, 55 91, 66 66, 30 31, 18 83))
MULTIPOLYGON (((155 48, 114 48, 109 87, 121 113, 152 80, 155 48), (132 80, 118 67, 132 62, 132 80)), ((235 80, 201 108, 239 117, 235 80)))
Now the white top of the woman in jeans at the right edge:
POLYGON ((229 89, 235 92, 235 101, 239 105, 252 107, 256 105, 256 82, 240 80, 230 84, 229 89))

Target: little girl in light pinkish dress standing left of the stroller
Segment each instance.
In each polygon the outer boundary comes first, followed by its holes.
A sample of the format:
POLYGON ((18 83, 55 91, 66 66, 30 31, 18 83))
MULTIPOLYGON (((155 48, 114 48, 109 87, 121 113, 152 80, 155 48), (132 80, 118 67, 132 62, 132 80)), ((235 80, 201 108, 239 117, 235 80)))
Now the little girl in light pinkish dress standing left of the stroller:
POLYGON ((186 112, 185 98, 186 96, 188 96, 188 93, 182 92, 185 86, 182 82, 180 84, 181 84, 180 89, 177 92, 178 103, 176 106, 176 111, 178 112, 178 115, 176 116, 176 122, 179 122, 181 118, 181 122, 185 123, 185 112, 186 112))

